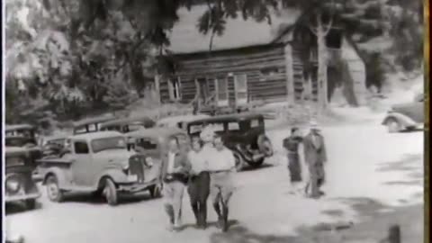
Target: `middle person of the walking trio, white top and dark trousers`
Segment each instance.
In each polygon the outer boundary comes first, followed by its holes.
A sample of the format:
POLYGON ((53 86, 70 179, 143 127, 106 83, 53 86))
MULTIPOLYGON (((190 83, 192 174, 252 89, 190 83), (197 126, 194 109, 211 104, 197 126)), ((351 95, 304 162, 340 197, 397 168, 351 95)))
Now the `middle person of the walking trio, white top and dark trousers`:
POLYGON ((187 191, 198 229, 207 228, 207 199, 210 193, 210 174, 207 171, 208 160, 202 153, 202 140, 192 138, 192 150, 188 157, 192 165, 187 191))

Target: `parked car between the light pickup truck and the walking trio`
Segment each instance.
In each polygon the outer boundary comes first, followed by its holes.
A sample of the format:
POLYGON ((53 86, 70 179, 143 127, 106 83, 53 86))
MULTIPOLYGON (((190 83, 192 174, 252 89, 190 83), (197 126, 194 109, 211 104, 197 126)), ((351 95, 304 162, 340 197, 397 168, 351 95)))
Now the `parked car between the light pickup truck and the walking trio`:
MULTIPOLYGON (((126 133, 130 141, 130 150, 135 150, 142 157, 152 162, 150 169, 142 169, 142 164, 130 163, 130 173, 138 175, 139 180, 146 181, 153 196, 160 195, 162 189, 162 167, 168 140, 175 137, 182 145, 188 145, 187 133, 175 128, 150 128, 126 133)), ((186 147, 187 149, 187 147, 186 147)))

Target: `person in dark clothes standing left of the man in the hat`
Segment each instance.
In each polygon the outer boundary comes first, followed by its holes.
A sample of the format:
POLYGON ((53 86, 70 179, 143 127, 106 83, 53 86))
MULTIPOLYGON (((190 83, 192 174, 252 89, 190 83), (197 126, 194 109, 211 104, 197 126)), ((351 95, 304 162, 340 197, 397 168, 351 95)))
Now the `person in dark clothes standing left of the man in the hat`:
POLYGON ((283 145, 287 152, 288 157, 288 170, 290 171, 291 184, 293 185, 293 193, 297 193, 302 183, 302 164, 300 152, 300 145, 302 143, 302 136, 299 134, 298 128, 291 129, 290 137, 284 139, 283 145))

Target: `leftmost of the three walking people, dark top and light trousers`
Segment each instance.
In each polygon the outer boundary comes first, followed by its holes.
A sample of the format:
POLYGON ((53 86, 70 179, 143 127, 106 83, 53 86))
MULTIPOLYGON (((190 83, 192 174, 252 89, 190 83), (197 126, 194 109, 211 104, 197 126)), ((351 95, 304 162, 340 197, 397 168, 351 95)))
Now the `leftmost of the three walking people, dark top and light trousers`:
POLYGON ((182 201, 191 164, 187 154, 179 148, 175 137, 168 141, 168 151, 163 161, 165 210, 169 217, 168 230, 178 230, 182 220, 182 201))

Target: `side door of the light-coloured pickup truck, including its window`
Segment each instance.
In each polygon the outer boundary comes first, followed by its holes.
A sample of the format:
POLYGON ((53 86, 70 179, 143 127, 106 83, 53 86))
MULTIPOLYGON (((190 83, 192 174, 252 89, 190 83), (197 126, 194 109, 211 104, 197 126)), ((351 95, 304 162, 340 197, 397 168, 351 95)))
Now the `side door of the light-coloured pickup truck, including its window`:
POLYGON ((74 140, 74 157, 72 158, 73 184, 77 186, 90 186, 94 174, 93 161, 90 148, 86 140, 74 140))

